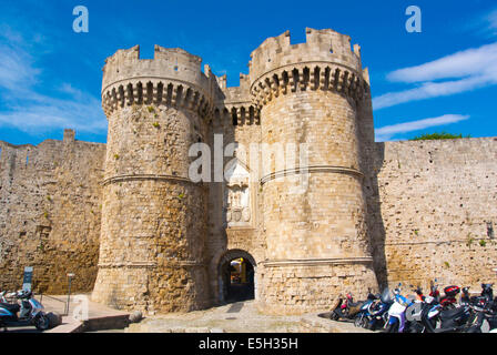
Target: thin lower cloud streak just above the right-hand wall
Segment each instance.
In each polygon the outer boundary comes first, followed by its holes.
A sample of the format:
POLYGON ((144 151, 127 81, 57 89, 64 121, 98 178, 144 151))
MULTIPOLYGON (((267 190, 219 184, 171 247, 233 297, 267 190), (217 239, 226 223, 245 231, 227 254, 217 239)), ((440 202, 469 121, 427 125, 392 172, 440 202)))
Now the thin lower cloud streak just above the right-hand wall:
POLYGON ((430 126, 446 125, 469 119, 469 115, 463 114, 444 114, 437 118, 429 118, 392 125, 385 125, 375 130, 376 142, 388 141, 399 133, 408 133, 424 130, 430 126))

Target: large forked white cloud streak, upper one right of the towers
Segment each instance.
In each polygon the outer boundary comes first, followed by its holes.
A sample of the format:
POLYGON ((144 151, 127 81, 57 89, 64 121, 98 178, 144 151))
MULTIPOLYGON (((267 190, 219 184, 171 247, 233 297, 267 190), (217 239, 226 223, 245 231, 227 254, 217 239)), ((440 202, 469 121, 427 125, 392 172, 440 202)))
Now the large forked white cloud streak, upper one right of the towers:
POLYGON ((387 74, 387 79, 412 83, 415 88, 374 98, 375 110, 493 85, 497 83, 497 42, 395 70, 387 74))

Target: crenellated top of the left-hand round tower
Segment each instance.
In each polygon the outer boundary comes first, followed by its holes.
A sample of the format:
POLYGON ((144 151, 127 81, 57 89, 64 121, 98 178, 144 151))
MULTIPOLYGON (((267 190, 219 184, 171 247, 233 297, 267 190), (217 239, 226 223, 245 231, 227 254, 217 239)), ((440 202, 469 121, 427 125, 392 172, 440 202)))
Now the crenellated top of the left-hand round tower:
POLYGON ((140 59, 140 45, 105 60, 102 106, 106 115, 131 104, 169 104, 206 114, 213 109, 217 80, 202 59, 180 48, 155 45, 153 59, 140 59))

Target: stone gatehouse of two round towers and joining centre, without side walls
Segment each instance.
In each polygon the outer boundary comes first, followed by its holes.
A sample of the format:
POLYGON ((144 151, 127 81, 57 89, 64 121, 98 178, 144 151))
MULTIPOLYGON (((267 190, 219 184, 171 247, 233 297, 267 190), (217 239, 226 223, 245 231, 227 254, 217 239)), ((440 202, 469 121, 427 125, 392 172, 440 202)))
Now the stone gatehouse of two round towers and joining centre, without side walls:
POLYGON ((156 45, 144 60, 134 47, 106 60, 94 301, 152 312, 214 305, 233 255, 253 264, 255 298, 271 312, 323 310, 339 293, 377 288, 363 191, 373 116, 358 45, 307 29, 305 43, 285 32, 251 57, 240 88, 181 49, 156 45), (224 145, 262 143, 261 166, 233 165, 243 183, 192 182, 189 148, 213 148, 219 133, 224 145), (264 144, 301 151, 282 168, 264 144))

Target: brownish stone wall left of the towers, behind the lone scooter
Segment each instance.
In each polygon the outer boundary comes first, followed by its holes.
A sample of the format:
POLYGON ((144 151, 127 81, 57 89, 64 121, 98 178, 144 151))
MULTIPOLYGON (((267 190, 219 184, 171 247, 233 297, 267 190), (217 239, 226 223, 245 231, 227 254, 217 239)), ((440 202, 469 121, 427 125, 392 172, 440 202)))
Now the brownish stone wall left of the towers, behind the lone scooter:
POLYGON ((90 292, 97 276, 105 145, 74 140, 0 142, 0 290, 33 266, 37 292, 90 292))

